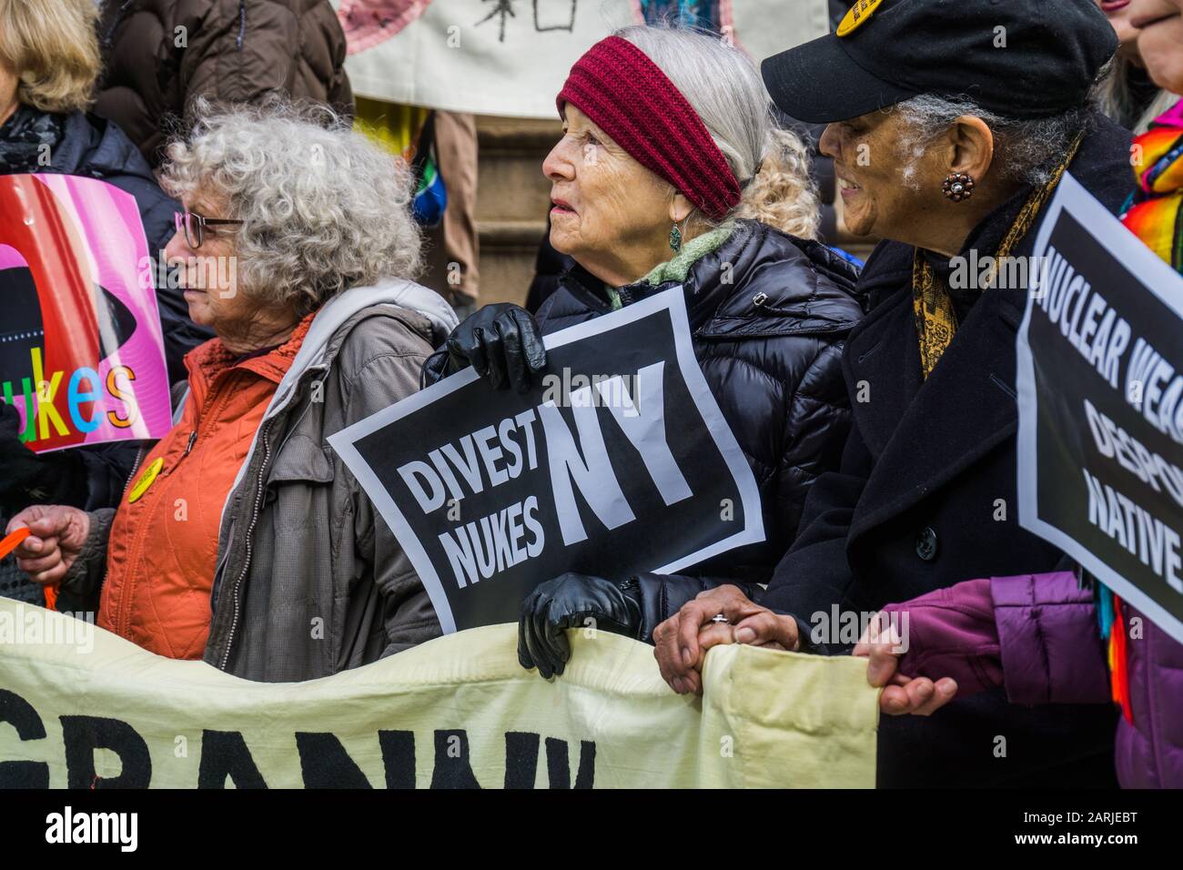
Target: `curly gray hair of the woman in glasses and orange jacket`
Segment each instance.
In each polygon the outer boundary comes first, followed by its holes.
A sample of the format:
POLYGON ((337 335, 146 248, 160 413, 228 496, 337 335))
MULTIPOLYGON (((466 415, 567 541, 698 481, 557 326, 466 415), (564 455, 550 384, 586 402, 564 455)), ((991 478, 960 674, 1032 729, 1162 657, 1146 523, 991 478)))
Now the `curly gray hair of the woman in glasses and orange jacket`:
POLYGON ((161 186, 214 195, 243 220, 238 283, 263 304, 304 316, 351 286, 414 278, 422 238, 406 163, 331 109, 280 99, 213 110, 168 147, 161 186))

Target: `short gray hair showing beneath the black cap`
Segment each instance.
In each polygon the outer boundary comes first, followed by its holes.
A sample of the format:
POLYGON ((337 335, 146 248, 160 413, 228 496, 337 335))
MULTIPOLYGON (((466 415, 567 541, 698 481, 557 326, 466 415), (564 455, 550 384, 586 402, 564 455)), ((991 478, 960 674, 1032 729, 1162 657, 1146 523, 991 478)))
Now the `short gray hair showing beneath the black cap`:
POLYGON ((900 148, 904 155, 904 182, 919 186, 917 165, 932 141, 962 115, 982 118, 994 134, 994 165, 1002 176, 1027 185, 1042 185, 1052 178, 1072 140, 1090 127, 1093 108, 1084 104, 1046 118, 1009 118, 987 111, 968 97, 940 97, 922 94, 884 109, 899 112, 905 122, 900 148))

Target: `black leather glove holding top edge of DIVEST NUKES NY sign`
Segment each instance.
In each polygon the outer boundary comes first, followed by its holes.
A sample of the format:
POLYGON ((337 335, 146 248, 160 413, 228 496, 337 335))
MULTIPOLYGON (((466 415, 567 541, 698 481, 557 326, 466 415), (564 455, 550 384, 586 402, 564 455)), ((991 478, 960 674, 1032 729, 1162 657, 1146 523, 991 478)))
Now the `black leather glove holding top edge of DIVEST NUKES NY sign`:
POLYGON ((524 393, 532 376, 547 365, 538 322, 521 305, 485 305, 460 326, 424 365, 422 384, 429 386, 468 366, 494 389, 512 386, 524 393))

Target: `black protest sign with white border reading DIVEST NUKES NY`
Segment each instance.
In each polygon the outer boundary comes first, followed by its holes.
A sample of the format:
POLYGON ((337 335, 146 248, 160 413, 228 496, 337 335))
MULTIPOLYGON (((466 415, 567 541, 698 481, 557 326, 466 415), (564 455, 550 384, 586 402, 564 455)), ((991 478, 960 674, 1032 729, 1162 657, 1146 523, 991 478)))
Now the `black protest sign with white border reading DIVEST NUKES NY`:
POLYGON ((674 288, 545 339, 525 394, 471 368, 329 438, 445 632, 565 571, 674 572, 764 539, 756 479, 674 288))

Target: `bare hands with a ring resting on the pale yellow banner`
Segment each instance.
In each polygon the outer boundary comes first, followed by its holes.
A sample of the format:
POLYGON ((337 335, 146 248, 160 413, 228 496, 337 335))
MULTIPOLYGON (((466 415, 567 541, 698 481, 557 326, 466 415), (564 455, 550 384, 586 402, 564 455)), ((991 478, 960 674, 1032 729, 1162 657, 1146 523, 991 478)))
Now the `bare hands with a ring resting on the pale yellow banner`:
POLYGON ((679 695, 703 694, 700 671, 706 651, 718 644, 749 644, 772 650, 796 650, 793 617, 761 607, 737 586, 700 593, 653 630, 654 656, 670 688, 679 695), (724 617, 719 621, 716 617, 724 617))

